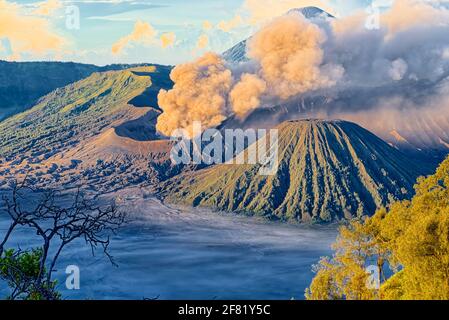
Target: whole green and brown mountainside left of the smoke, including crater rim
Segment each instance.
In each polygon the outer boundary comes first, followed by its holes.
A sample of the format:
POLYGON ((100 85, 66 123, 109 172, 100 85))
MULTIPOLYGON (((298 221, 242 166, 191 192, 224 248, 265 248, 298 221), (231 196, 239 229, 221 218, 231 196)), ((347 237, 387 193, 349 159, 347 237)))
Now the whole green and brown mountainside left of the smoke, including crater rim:
POLYGON ((0 122, 0 177, 28 173, 46 185, 144 182, 151 157, 168 153, 168 142, 150 140, 160 114, 155 95, 172 86, 170 70, 94 73, 0 122))

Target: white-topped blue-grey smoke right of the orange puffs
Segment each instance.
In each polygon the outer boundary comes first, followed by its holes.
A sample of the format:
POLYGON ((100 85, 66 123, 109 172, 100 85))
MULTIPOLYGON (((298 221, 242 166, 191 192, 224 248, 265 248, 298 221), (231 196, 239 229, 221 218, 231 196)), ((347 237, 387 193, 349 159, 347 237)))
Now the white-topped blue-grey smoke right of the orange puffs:
POLYGON ((396 0, 380 15, 379 28, 367 29, 369 16, 333 20, 326 28, 325 61, 345 69, 345 83, 385 85, 398 80, 435 80, 449 70, 449 11, 431 3, 396 0))

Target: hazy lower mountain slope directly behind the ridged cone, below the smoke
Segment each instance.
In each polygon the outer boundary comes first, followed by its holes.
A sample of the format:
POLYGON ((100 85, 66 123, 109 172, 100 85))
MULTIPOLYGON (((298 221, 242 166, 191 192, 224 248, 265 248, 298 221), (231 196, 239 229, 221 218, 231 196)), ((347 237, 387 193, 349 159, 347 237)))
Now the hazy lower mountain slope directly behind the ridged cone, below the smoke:
MULTIPOLYGON (((293 97, 271 108, 259 108, 242 120, 231 117, 224 128, 271 128, 298 118, 326 117, 356 122, 408 156, 433 163, 434 168, 449 153, 449 113, 447 107, 429 110, 410 108, 378 110, 377 101, 394 99, 394 92, 419 100, 429 94, 422 84, 402 85, 385 94, 388 88, 352 88, 330 96, 293 97), (390 112, 390 113, 387 113, 390 112), (382 116, 383 115, 383 116, 382 116), (389 115, 389 116, 388 116, 389 115)), ((430 86, 430 85, 429 85, 430 86)))

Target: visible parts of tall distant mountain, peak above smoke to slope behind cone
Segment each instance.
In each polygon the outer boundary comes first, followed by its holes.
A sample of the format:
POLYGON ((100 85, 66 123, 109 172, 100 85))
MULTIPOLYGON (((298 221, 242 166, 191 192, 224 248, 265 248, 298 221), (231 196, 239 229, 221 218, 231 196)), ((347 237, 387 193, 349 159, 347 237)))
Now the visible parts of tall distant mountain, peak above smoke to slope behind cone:
MULTIPOLYGON (((290 12, 298 11, 315 22, 334 18, 316 7, 290 12)), ((245 61, 246 41, 223 56, 230 62, 245 61)), ((430 161, 436 167, 449 154, 449 109, 447 104, 434 102, 434 99, 438 92, 446 91, 448 79, 449 73, 445 72, 433 79, 403 79, 377 86, 360 81, 348 88, 337 86, 336 90, 310 92, 270 108, 258 108, 243 122, 231 118, 223 127, 273 127, 299 118, 344 119, 360 124, 407 155, 430 161), (410 102, 401 102, 401 106, 395 108, 388 105, 390 102, 398 104, 398 97, 407 97, 410 102), (429 103, 435 108, 428 108, 429 103)))

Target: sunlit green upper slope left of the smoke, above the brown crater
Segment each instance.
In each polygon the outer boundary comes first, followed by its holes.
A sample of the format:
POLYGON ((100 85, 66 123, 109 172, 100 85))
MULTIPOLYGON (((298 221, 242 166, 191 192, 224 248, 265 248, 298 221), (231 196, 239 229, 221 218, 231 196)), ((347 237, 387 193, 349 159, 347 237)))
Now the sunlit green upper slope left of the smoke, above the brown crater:
POLYGON ((48 158, 135 119, 142 111, 130 101, 170 86, 169 72, 169 67, 138 67, 94 73, 56 89, 30 110, 0 122, 0 160, 48 158))

